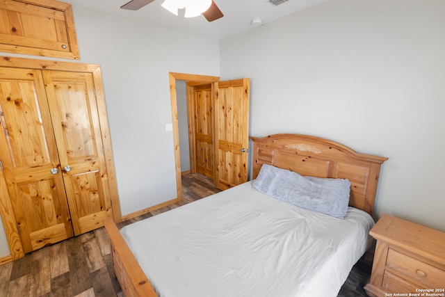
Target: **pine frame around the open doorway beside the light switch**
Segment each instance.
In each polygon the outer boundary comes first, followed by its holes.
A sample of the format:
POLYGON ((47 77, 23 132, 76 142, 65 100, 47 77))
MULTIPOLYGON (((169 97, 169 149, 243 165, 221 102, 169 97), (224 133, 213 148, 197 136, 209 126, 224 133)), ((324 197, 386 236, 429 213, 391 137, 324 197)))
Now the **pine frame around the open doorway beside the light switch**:
MULTIPOLYGON (((177 201, 182 200, 182 184, 181 184, 181 157, 179 150, 179 124, 178 124, 178 104, 177 104, 177 93, 176 93, 176 81, 186 81, 186 83, 211 83, 212 89, 213 84, 219 81, 219 77, 210 77, 207 75, 199 74, 185 74, 177 72, 169 72, 168 74, 170 81, 170 102, 172 108, 172 126, 173 126, 173 146, 175 150, 175 172, 176 172, 176 191, 177 191, 177 201)), ((188 96, 187 96, 188 97, 188 96)), ((187 106, 188 104, 187 99, 187 106)), ((188 112, 189 114, 189 112, 188 112)), ((190 135, 190 131, 189 131, 190 135)))

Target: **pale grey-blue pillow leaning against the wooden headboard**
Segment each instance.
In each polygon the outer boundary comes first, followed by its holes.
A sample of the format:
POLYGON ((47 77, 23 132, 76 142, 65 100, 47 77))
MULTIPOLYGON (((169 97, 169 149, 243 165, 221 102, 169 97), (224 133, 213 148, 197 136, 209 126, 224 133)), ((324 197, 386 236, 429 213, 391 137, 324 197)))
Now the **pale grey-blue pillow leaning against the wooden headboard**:
POLYGON ((348 210, 348 179, 303 177, 297 172, 264 164, 253 186, 266 195, 336 218, 344 218, 348 210))

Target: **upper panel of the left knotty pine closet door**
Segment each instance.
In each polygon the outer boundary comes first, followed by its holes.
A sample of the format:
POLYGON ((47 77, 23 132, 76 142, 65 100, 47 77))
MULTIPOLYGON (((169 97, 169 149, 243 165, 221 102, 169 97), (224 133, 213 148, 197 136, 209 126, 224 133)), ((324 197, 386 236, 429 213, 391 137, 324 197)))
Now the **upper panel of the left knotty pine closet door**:
POLYGON ((51 122, 42 118, 47 104, 44 90, 39 89, 40 73, 14 69, 0 75, 0 116, 11 161, 15 168, 51 166, 57 152, 51 122))

